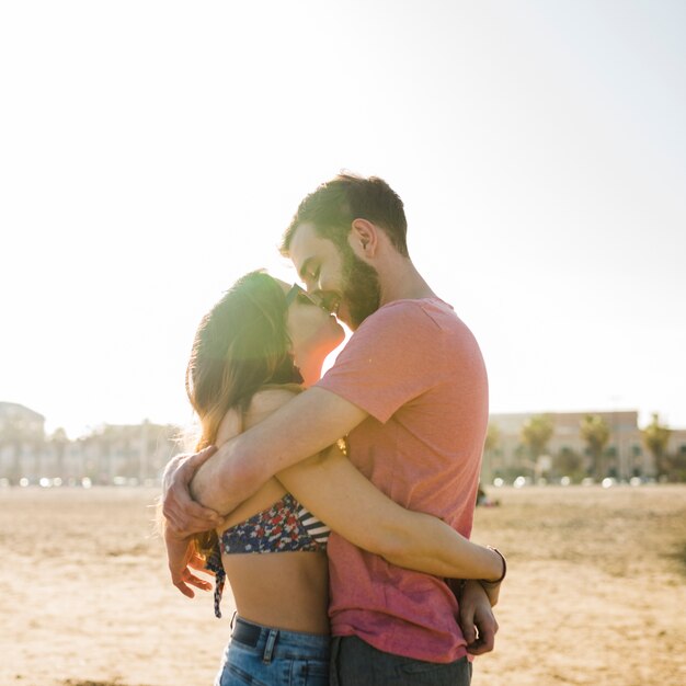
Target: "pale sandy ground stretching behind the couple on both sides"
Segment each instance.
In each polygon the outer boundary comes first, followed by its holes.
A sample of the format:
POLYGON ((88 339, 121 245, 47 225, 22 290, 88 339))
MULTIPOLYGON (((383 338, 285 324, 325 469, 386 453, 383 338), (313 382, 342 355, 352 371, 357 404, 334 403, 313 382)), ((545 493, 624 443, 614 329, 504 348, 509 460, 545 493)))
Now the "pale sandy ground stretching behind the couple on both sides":
MULTIPOLYGON (((686 684, 686 487, 492 490, 507 554, 473 686, 686 684)), ((229 636, 168 581, 146 489, 0 490, 0 685, 209 685, 229 636)))

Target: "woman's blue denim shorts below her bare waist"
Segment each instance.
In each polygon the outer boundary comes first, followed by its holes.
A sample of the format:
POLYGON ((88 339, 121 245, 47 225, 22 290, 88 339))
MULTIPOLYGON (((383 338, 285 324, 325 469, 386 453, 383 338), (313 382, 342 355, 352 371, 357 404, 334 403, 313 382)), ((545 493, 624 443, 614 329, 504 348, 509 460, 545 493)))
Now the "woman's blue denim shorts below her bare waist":
POLYGON ((329 686, 329 643, 237 617, 215 686, 329 686))

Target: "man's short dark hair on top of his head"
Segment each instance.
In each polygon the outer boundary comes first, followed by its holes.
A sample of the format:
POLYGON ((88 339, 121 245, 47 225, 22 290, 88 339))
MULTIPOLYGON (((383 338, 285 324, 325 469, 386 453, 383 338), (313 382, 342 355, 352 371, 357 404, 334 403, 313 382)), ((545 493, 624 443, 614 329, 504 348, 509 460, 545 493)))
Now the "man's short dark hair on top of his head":
POLYGON ((322 183, 300 203, 284 232, 282 254, 288 255, 293 236, 301 224, 315 225, 319 236, 342 245, 355 219, 367 219, 384 229, 396 250, 409 256, 408 221, 398 194, 378 176, 365 179, 347 172, 322 183))

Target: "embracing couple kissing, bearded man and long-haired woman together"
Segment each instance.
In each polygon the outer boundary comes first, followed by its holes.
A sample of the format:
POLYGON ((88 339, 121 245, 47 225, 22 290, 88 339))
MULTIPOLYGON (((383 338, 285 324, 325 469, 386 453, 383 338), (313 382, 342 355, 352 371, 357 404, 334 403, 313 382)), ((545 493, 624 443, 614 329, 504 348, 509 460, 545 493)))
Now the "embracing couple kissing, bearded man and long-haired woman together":
POLYGON ((198 453, 164 475, 185 595, 238 616, 217 684, 469 684, 505 560, 468 540, 488 424, 479 346, 412 264, 378 178, 308 195, 282 252, 203 318, 186 371, 198 453), (353 334, 321 376, 327 355, 353 334))

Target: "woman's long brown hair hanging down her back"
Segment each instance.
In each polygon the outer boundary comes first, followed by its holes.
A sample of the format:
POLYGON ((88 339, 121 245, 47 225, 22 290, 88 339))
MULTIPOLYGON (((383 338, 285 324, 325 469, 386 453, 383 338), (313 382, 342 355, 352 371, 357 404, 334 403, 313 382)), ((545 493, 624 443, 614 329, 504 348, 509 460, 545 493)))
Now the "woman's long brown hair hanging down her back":
MULTIPOLYGON (((202 430, 196 449, 214 444, 226 413, 245 412, 263 386, 302 381, 286 320, 283 288, 264 272, 239 278, 203 317, 186 367, 186 393, 202 430)), ((195 542, 207 557, 217 535, 199 534, 195 542)))

